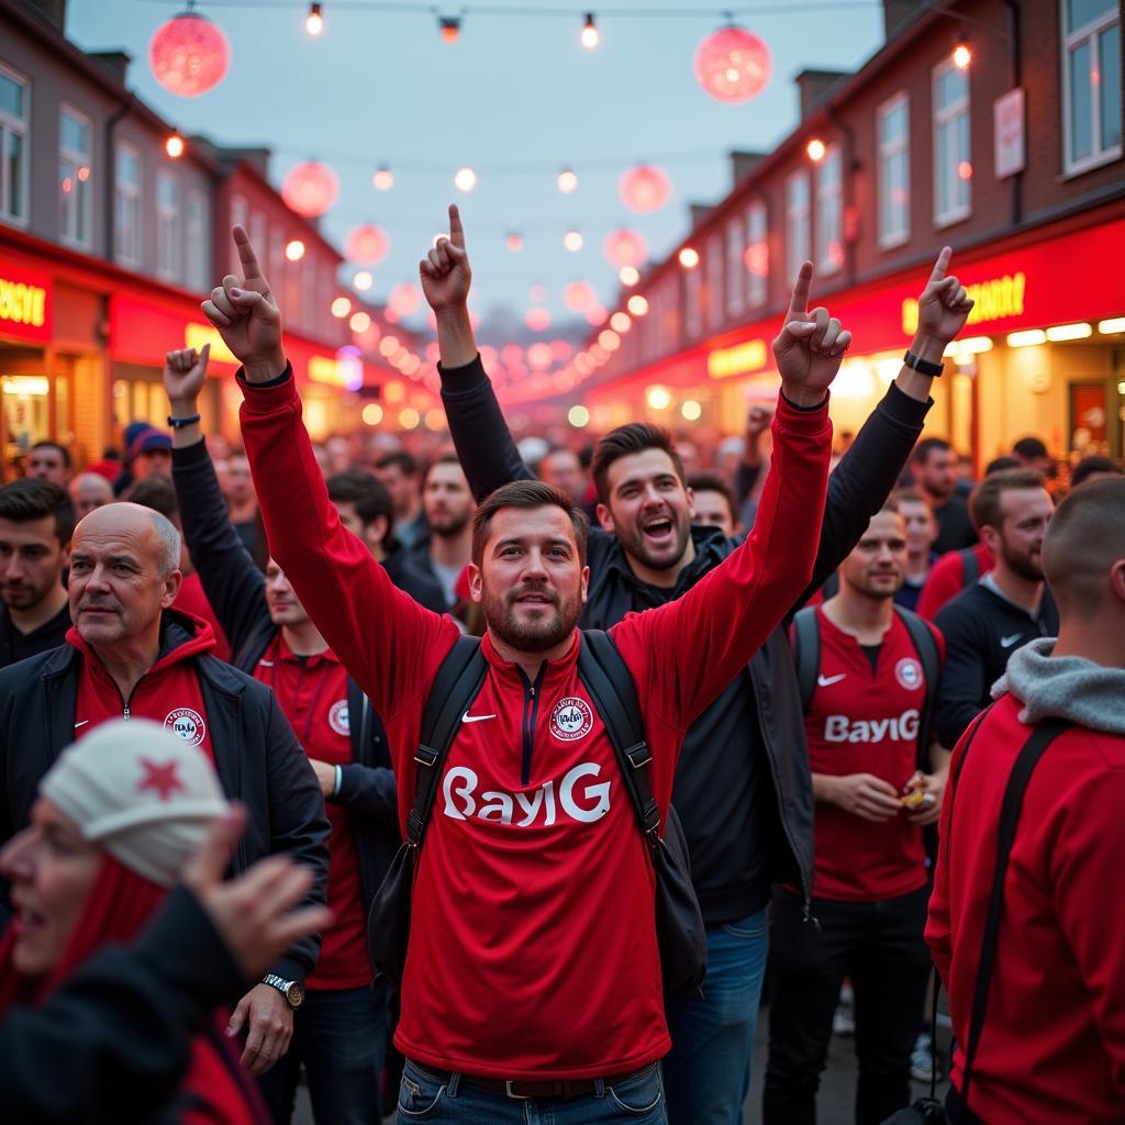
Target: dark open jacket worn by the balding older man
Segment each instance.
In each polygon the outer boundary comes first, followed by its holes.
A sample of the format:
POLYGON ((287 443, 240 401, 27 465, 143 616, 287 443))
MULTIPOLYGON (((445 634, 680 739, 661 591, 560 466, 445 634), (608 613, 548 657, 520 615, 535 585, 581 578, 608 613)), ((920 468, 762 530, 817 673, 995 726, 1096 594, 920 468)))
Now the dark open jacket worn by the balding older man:
MULTIPOLYGON (((189 636, 184 619, 164 612, 161 651, 189 636)), ((81 654, 62 645, 0 670, 0 840, 24 828, 43 775, 74 741, 81 654)), ((323 903, 328 878, 328 821, 316 774, 264 684, 214 656, 192 657, 199 676, 215 770, 223 792, 246 807, 246 830, 233 870, 284 853, 312 867, 306 903, 323 903)), ((320 954, 320 935, 303 938, 274 965, 304 983, 320 954)))

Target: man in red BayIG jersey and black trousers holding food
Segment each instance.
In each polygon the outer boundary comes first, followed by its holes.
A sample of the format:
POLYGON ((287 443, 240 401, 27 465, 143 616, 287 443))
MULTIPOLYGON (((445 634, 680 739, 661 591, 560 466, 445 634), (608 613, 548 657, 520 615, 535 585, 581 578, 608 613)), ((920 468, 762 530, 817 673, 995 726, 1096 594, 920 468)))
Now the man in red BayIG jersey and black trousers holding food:
MULTIPOLYGON (((929 693, 924 656, 894 608, 906 560, 906 522, 889 501, 840 566, 839 593, 802 611, 816 614, 819 636, 804 720, 818 925, 803 920, 799 894, 775 890, 766 1125, 814 1119, 845 976, 856 1005, 856 1122, 875 1125, 910 1101, 910 1052, 930 972, 921 827, 938 817, 948 754, 926 747, 933 773, 918 770, 929 693)), ((937 664, 937 632, 914 621, 930 630, 937 664)))

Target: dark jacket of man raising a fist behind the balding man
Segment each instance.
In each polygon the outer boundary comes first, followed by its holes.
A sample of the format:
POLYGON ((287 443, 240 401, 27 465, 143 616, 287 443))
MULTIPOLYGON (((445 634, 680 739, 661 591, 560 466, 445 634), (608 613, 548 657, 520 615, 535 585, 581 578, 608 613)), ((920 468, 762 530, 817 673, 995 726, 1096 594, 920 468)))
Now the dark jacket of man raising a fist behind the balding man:
MULTIPOLYGON (((206 442, 172 450, 172 482, 183 538, 231 642, 231 663, 253 675, 278 627, 270 619, 266 578, 227 518, 206 442)), ((382 722, 351 676, 348 714, 352 764, 342 767, 340 793, 332 800, 351 813, 366 914, 398 849, 398 801, 382 722)))

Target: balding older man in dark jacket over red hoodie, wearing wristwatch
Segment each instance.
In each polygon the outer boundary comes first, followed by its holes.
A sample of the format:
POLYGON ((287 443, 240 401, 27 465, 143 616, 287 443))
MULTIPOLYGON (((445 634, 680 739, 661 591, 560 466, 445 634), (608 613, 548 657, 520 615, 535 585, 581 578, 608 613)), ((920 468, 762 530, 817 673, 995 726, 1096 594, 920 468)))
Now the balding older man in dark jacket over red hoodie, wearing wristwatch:
MULTIPOLYGON (((39 780, 75 738, 110 718, 162 722, 215 763, 246 807, 233 868, 282 853, 326 894, 328 825, 316 775, 273 693, 210 655, 206 622, 170 606, 180 586, 180 536, 158 512, 107 504, 78 526, 66 642, 0 672, 0 840, 24 828, 39 780)), ((295 943, 236 1009, 243 1064, 269 1070, 288 1048, 292 1010, 316 965, 320 936, 295 943)))

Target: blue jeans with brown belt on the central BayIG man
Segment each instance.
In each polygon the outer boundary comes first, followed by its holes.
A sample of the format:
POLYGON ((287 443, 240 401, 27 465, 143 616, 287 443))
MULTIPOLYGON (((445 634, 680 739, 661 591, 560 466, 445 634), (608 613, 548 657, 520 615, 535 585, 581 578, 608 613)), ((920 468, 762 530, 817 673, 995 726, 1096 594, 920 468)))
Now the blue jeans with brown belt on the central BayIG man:
POLYGON ((519 1100, 498 1090, 472 1086, 464 1074, 449 1081, 406 1060, 398 1088, 398 1125, 433 1122, 435 1125, 667 1125, 660 1065, 612 1086, 597 1083, 594 1094, 565 1101, 561 1098, 519 1100))

